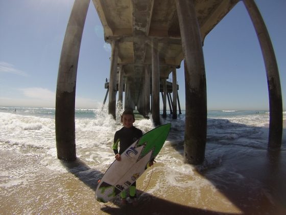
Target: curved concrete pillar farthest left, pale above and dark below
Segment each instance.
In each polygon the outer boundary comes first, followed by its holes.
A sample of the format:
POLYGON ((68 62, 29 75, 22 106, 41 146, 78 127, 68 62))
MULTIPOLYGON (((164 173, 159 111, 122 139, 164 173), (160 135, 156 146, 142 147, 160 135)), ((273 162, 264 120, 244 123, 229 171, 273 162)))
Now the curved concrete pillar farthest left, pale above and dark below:
POLYGON ((75 0, 65 31, 56 92, 58 159, 76 160, 75 100, 81 38, 89 0, 75 0))

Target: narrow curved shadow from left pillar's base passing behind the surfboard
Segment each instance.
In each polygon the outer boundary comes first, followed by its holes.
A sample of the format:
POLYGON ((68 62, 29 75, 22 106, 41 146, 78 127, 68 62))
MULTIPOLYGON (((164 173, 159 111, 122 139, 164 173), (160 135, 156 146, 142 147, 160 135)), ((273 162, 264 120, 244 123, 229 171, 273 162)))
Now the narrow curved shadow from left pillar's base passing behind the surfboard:
MULTIPOLYGON (((103 176, 101 171, 91 169, 79 158, 77 158, 77 160, 74 162, 61 161, 61 163, 69 173, 72 173, 84 184, 94 190, 94 192, 96 191, 98 180, 100 180, 103 176)), ((164 199, 154 197, 147 192, 142 192, 141 190, 136 190, 136 194, 140 202, 140 204, 137 206, 132 206, 131 204, 122 206, 120 196, 118 195, 111 201, 114 204, 114 207, 109 206, 110 204, 107 205, 99 203, 103 205, 101 210, 107 214, 178 214, 178 211, 182 214, 218 214, 215 211, 193 208, 166 201, 164 199), (144 198, 140 198, 141 196, 144 196, 144 198)), ((220 214, 227 215, 232 213, 220 214)))

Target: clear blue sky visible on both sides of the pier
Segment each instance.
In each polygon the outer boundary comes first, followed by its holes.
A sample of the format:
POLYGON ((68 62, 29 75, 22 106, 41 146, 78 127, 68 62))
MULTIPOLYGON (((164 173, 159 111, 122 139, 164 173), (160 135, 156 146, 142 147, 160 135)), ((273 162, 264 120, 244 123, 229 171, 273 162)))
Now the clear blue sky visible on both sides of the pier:
MULTIPOLYGON (((73 3, 0 0, 0 106, 55 106, 61 47, 73 3)), ((285 110, 286 1, 256 0, 256 4, 272 39, 285 110)), ((203 51, 208 110, 269 109, 263 57, 242 2, 206 36, 203 51)), ((78 65, 76 107, 101 107, 110 53, 99 17, 90 3, 78 65)), ((183 63, 177 77, 184 109, 183 63)))

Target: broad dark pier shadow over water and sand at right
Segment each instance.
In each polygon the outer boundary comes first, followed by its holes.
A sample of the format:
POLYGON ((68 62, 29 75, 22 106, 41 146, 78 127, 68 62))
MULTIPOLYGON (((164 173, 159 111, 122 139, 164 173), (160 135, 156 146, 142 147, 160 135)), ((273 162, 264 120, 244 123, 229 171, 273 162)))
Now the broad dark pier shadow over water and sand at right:
MULTIPOLYGON (((232 123, 225 119, 208 119, 211 125, 227 124, 231 130, 240 130, 242 127, 247 132, 261 132, 261 139, 268 140, 268 127, 254 127, 245 124, 232 123), (215 122, 214 122, 215 121, 215 122)), ((220 130, 219 132, 223 132, 220 130)), ((237 132, 239 133, 239 132, 237 132)), ((260 133, 259 133, 260 134, 260 133)), ((251 139, 246 143, 236 140, 224 140, 224 134, 208 134, 205 156, 211 154, 211 150, 223 147, 225 150, 219 152, 222 161, 219 164, 209 165, 207 159, 201 165, 195 165, 198 174, 210 181, 227 199, 241 210, 240 214, 286 214, 286 129, 283 128, 282 147, 280 150, 268 150, 265 145, 251 139), (211 146, 209 146, 211 145, 211 146), (209 148, 208 148, 209 147, 209 148), (251 153, 248 153, 249 150, 251 153), (227 153, 225 153, 227 152, 227 153), (221 169, 221 170, 220 170, 221 169), (233 172, 237 173, 235 183, 233 172)), ((225 134, 225 137, 228 136, 225 134)), ((244 137, 242 136, 242 141, 244 137)), ((183 156, 184 143, 172 144, 173 148, 183 156)), ((202 214, 208 214, 206 211, 202 214)), ((198 214, 198 213, 194 213, 198 214)), ((211 213, 210 213, 211 214, 211 213)), ((219 213, 221 214, 221 213, 219 213)))

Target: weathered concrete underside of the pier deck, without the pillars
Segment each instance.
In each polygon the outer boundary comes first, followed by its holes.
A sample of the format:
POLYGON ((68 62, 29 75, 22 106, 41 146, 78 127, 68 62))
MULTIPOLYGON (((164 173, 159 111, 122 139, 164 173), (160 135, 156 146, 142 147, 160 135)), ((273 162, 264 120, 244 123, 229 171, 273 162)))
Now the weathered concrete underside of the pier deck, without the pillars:
MULTIPOLYGON (((184 58, 175 1, 92 2, 101 19, 105 40, 111 44, 113 39, 118 39, 118 65, 124 67, 124 77, 132 78, 130 96, 134 105, 138 105, 144 87, 144 67, 152 65, 152 38, 158 40, 160 79, 168 77, 172 66, 180 66, 184 58)), ((202 41, 237 2, 194 1, 202 41)))

